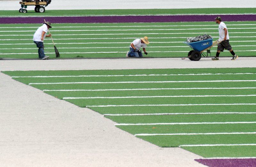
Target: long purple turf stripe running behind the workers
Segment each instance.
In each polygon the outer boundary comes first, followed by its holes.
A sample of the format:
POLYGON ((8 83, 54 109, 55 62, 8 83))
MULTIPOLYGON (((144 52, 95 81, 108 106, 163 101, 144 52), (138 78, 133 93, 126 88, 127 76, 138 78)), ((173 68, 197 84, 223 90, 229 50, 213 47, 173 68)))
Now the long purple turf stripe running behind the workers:
MULTIPOLYGON (((217 15, 216 15, 217 16, 217 15)), ((1 24, 43 23, 132 23, 132 22, 191 22, 215 21, 215 15, 175 15, 175 16, 80 16, 80 17, 0 17, 1 24)), ((256 14, 218 15, 223 21, 256 21, 256 14)))

